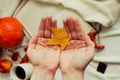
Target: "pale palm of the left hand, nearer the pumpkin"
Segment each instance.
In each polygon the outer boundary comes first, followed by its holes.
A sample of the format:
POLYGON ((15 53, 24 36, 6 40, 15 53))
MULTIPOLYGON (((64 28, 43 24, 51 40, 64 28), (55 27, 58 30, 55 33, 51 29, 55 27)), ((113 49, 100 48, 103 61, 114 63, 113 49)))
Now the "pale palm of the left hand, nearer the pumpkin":
POLYGON ((59 48, 55 50, 48 47, 46 42, 48 42, 48 39, 38 38, 37 43, 33 44, 34 48, 28 49, 30 61, 37 66, 54 65, 54 67, 57 67, 59 63, 59 48))

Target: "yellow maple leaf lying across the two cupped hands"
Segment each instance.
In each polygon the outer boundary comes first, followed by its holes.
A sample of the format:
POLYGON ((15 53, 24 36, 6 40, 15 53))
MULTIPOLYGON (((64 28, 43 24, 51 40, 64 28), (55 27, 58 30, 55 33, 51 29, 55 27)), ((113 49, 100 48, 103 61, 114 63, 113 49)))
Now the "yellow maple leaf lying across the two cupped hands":
POLYGON ((69 37, 65 28, 57 29, 50 28, 53 32, 53 37, 47 43, 48 45, 60 45, 61 50, 64 50, 65 47, 69 44, 69 37))

